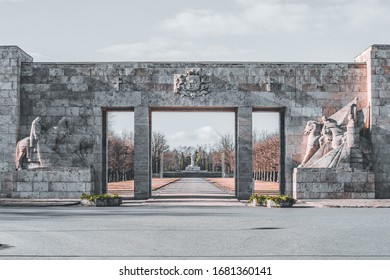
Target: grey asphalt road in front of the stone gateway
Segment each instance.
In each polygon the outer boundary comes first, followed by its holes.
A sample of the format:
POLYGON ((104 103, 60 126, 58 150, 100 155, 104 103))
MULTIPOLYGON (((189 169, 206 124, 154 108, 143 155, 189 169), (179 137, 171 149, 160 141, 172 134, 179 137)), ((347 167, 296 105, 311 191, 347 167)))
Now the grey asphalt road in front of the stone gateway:
POLYGON ((390 209, 0 208, 1 259, 390 259, 390 209))

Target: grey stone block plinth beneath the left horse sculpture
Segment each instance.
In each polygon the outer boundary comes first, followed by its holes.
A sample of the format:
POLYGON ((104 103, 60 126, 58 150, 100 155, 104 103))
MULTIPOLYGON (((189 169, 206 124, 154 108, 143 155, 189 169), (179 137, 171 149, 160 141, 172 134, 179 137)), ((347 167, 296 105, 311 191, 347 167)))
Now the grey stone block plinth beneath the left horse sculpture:
POLYGON ((80 198, 93 191, 91 168, 28 169, 15 172, 13 198, 80 198))

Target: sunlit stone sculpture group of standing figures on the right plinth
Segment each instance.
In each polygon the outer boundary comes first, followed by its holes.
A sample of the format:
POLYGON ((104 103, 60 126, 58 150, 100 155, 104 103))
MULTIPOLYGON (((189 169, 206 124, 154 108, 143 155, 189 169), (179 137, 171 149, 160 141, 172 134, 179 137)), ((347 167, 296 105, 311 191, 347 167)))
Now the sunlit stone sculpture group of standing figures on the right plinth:
POLYGON ((362 121, 368 114, 356 107, 357 98, 320 122, 307 122, 306 152, 299 168, 371 168, 371 149, 362 121))

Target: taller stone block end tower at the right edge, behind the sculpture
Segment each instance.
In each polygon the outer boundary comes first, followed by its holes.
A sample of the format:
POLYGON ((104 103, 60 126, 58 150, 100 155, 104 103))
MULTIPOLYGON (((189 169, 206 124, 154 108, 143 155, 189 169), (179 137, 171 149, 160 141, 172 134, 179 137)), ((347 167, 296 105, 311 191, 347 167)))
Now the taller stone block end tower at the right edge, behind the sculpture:
POLYGON ((390 45, 373 45, 356 57, 366 62, 376 197, 390 198, 390 45))

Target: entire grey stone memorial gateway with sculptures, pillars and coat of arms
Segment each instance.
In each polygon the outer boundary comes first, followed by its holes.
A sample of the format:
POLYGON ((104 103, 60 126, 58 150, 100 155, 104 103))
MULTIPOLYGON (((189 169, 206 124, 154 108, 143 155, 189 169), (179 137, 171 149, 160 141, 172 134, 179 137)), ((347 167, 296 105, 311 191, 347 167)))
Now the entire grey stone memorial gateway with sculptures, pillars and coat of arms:
POLYGON ((252 112, 280 114, 280 191, 390 198, 390 45, 351 63, 43 63, 0 47, 0 196, 106 191, 107 112, 134 111, 135 198, 151 196, 153 111, 231 111, 236 197, 252 180, 252 112))

